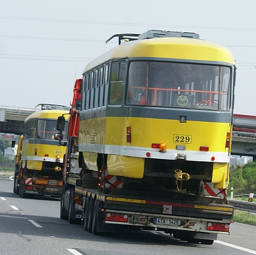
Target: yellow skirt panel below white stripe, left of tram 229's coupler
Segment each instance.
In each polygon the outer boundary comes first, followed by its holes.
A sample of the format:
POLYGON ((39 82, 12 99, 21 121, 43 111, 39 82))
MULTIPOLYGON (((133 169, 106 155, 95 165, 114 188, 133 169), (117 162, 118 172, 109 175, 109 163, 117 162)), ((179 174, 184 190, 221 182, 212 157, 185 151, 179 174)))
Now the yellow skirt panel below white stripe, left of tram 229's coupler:
POLYGON ((108 155, 107 169, 110 175, 121 175, 142 179, 144 175, 144 158, 108 155))

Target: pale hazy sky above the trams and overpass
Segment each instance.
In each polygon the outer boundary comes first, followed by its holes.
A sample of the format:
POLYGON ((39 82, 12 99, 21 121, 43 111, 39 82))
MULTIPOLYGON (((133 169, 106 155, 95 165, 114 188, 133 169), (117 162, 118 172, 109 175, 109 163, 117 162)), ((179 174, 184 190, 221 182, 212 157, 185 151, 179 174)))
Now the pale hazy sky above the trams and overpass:
POLYGON ((69 106, 87 63, 116 33, 199 33, 235 58, 236 114, 256 115, 255 0, 0 0, 0 106, 69 106))

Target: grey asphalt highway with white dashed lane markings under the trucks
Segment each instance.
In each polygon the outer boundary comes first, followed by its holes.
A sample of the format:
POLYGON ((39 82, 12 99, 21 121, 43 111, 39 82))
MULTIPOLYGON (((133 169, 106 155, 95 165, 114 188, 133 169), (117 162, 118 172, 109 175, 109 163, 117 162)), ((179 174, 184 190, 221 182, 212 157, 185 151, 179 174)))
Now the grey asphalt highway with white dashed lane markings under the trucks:
POLYGON ((1 255, 245 255, 256 254, 256 227, 233 223, 231 234, 213 245, 190 244, 162 232, 93 236, 83 225, 59 217, 60 201, 13 194, 13 181, 0 178, 1 255))

